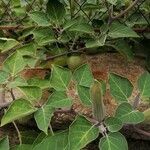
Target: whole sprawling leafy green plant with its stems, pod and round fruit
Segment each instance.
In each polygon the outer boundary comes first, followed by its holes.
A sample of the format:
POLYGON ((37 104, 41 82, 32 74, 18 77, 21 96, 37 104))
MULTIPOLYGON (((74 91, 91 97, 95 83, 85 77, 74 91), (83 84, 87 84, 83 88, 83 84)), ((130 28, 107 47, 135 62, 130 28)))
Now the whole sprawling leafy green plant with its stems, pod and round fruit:
POLYGON ((142 7, 138 5, 138 12, 144 13, 135 14, 132 8, 139 1, 0 2, 0 52, 4 56, 0 85, 1 92, 12 98, 0 104, 0 126, 12 123, 20 142, 11 146, 5 136, 0 140, 0 150, 81 150, 94 140, 101 150, 128 149, 120 130, 125 125, 150 124, 150 110, 138 110, 141 101, 150 103, 150 74, 145 72, 139 77, 139 94, 133 100, 133 85, 128 79, 110 72, 108 81, 96 80, 84 59, 86 54, 108 51, 119 52, 128 61, 136 56, 135 46, 141 46, 143 37, 149 40, 148 33, 141 36, 137 30, 139 27, 146 30, 149 25, 142 17, 149 16, 149 2, 142 7), (15 22, 11 24, 12 18, 15 22), (30 79, 23 76, 24 71, 37 69, 47 74, 30 79), (71 84, 75 84, 81 104, 92 113, 88 116, 74 112, 75 118, 66 130, 53 131, 55 113, 73 111, 76 102, 68 94, 71 84), (117 107, 112 116, 107 114, 106 90, 117 107), (19 131, 17 124, 30 119, 41 133, 19 131))

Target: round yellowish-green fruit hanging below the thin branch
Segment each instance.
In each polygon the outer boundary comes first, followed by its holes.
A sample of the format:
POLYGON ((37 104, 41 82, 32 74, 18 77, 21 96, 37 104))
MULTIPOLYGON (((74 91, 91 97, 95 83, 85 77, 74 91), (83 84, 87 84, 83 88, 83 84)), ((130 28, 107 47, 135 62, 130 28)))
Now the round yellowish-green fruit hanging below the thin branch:
POLYGON ((67 59, 68 68, 71 70, 75 70, 80 65, 82 65, 85 61, 85 58, 81 55, 72 55, 67 59))

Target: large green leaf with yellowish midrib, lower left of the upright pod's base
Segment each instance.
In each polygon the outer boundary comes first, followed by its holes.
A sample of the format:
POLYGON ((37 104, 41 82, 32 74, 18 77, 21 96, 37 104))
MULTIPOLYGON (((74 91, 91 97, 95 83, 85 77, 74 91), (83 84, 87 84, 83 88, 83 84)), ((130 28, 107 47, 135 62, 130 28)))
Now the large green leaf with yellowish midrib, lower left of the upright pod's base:
POLYGON ((84 117, 78 116, 69 127, 69 148, 70 150, 82 149, 98 135, 98 128, 92 126, 84 117))

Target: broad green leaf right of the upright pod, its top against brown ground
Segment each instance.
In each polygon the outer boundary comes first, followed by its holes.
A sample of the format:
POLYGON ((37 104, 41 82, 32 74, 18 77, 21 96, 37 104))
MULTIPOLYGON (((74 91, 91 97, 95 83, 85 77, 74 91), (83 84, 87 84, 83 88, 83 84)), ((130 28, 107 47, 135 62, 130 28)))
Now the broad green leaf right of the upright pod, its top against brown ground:
POLYGON ((110 93, 118 102, 128 101, 133 85, 124 77, 111 73, 109 75, 110 93))

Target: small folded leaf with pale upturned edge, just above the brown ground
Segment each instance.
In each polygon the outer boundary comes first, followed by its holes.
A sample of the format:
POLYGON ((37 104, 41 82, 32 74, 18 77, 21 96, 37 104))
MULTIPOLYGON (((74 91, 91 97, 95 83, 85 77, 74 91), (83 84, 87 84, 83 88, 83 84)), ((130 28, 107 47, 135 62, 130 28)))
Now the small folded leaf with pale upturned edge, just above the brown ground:
POLYGON ((105 45, 107 35, 103 35, 99 39, 93 39, 86 42, 86 48, 96 48, 105 45))

